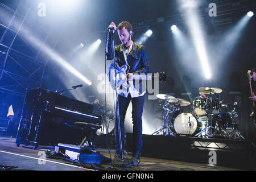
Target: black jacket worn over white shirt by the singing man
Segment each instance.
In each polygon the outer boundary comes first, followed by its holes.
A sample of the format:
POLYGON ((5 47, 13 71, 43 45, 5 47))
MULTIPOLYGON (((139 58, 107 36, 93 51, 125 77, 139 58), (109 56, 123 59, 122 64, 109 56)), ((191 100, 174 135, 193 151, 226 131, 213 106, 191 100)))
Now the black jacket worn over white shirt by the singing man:
MULTIPOLYGON (((119 46, 115 46, 115 61, 117 61, 119 67, 125 65, 125 57, 123 56, 123 50, 125 50, 125 46, 120 44, 119 46)), ((106 59, 113 59, 113 36, 108 34, 108 38, 106 41, 106 59)), ((137 44, 133 41, 133 48, 131 52, 127 55, 127 63, 130 66, 129 73, 137 73, 141 75, 141 73, 147 74, 150 72, 150 66, 148 64, 147 52, 144 49, 144 46, 141 44, 137 44)))

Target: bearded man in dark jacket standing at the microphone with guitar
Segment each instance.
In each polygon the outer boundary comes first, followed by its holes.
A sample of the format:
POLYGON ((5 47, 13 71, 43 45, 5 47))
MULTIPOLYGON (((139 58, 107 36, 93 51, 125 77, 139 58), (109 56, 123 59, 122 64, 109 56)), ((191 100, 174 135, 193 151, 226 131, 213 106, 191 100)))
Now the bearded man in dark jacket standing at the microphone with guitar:
MULTIPOLYGON (((109 28, 113 28, 112 32, 109 32, 107 42, 106 42, 106 59, 117 61, 119 67, 122 65, 129 65, 129 73, 127 77, 133 74, 141 75, 142 73, 147 74, 150 71, 148 64, 147 53, 144 49, 144 46, 137 44, 131 39, 133 35, 133 28, 129 22, 123 21, 118 24, 118 27, 115 26, 115 23, 112 22, 109 25, 109 28), (113 55, 113 34, 117 30, 119 39, 121 43, 119 46, 114 47, 113 55)), ((118 94, 119 102, 119 121, 120 121, 120 130, 121 130, 121 142, 122 148, 125 143, 125 129, 124 121, 127 108, 131 101, 133 106, 132 119, 133 119, 133 166, 138 166, 141 157, 142 150, 142 112, 143 105, 145 100, 146 90, 136 89, 133 80, 127 78, 131 84, 129 84, 129 90, 126 93, 118 94)), ((141 85, 140 85, 141 86, 141 85)), ((117 115, 115 117, 115 158, 121 158, 121 151, 119 146, 119 135, 118 135, 118 120, 117 115)))

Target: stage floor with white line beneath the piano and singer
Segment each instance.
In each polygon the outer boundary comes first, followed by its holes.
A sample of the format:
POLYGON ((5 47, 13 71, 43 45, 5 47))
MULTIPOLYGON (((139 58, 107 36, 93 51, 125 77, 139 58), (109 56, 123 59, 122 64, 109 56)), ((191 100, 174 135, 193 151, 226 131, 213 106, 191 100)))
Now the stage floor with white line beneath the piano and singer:
MULTIPOLYGON (((70 162, 58 159, 46 158, 45 164, 42 164, 42 154, 40 151, 53 150, 55 147, 39 146, 33 150, 32 146, 19 147, 15 145, 15 138, 0 137, 0 166, 16 166, 15 170, 33 170, 33 171, 97 171, 88 165, 86 167, 76 166, 70 162)), ((101 155, 110 158, 109 151, 104 148, 97 148, 101 155)), ((114 150, 110 150, 112 159, 114 150)), ((127 158, 131 155, 127 154, 127 158)), ((108 167, 105 165, 105 167, 108 167)), ((109 166, 111 167, 111 166, 109 166)), ((13 170, 14 170, 13 169, 13 170)), ((138 167, 130 167, 130 171, 242 171, 241 169, 226 168, 220 166, 210 166, 205 164, 179 162, 173 160, 164 160, 156 158, 141 158, 138 167)), ((112 170, 113 171, 113 170, 112 170)))

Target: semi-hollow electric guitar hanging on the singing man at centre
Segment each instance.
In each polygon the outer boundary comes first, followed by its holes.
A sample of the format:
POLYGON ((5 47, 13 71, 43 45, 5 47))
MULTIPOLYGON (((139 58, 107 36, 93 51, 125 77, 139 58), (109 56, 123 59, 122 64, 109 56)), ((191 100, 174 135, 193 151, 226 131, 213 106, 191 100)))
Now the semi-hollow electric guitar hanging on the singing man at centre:
MULTIPOLYGON (((164 82, 167 80, 166 74, 163 72, 156 73, 156 74, 141 74, 141 75, 129 75, 129 80, 127 81, 127 73, 129 72, 130 66, 123 65, 119 67, 117 63, 114 62, 110 63, 109 65, 109 81, 112 88, 115 90, 117 88, 117 93, 120 94, 122 92, 127 92, 130 87, 130 84, 133 84, 133 80, 135 80, 135 85, 139 84, 139 80, 158 80, 164 82)), ((139 88, 135 86, 135 88, 139 91, 139 88)))

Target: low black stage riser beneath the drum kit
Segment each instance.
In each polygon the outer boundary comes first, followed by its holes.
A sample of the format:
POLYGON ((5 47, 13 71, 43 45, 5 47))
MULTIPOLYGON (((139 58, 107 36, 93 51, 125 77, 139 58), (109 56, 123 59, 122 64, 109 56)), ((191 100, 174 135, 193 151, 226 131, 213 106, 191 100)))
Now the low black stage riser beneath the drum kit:
MULTIPOLYGON (((132 152, 132 141, 132 134, 127 133, 127 151, 132 152)), ((144 157, 209 164, 213 156, 210 151, 216 152, 217 166, 253 168, 254 150, 250 141, 143 135, 144 157)))

